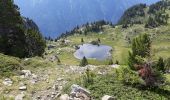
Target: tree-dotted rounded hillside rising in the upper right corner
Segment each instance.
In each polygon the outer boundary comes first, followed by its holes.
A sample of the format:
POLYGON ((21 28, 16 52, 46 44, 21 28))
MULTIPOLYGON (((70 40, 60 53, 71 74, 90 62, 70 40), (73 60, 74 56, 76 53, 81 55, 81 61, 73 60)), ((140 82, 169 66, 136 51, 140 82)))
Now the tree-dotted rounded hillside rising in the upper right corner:
POLYGON ((120 18, 118 24, 124 26, 133 24, 145 24, 145 27, 155 28, 167 24, 169 18, 167 9, 170 7, 170 1, 159 1, 156 4, 147 6, 138 4, 129 8, 120 18))

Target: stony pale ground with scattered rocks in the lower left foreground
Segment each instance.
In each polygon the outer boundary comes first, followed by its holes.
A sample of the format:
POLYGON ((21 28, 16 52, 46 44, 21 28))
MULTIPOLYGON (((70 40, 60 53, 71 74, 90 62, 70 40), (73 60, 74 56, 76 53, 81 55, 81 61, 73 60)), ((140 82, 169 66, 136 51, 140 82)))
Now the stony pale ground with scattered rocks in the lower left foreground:
MULTIPOLYGON (((31 58, 30 58, 31 59, 31 58)), ((29 59, 25 59, 27 61, 29 59)), ((57 59, 52 56, 48 59, 54 63, 57 59)), ((117 68, 118 65, 109 66, 117 68)), ((1 85, 1 93, 15 100, 91 100, 90 91, 72 84, 70 94, 63 93, 63 87, 70 81, 80 77, 87 69, 104 75, 107 68, 103 66, 87 65, 85 67, 57 64, 54 67, 24 69, 19 76, 4 78, 1 85)), ((105 96, 103 98, 111 98, 105 96)), ((112 100, 112 99, 103 99, 112 100)))

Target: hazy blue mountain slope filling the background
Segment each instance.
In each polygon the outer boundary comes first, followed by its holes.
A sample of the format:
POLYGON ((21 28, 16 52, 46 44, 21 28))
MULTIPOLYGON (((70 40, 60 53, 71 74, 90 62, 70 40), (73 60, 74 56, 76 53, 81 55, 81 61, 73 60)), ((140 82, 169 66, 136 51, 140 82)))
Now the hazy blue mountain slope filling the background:
POLYGON ((14 0, 23 16, 33 19, 45 36, 56 37, 77 25, 97 20, 116 23, 138 3, 159 0, 14 0))

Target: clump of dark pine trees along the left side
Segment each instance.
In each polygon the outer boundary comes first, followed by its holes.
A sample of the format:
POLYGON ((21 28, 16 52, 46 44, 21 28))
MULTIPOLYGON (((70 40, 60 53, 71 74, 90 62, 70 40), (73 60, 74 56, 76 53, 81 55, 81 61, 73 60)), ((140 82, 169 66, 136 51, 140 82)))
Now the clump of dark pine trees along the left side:
POLYGON ((25 22, 13 0, 0 0, 0 52, 16 57, 40 56, 45 40, 32 20, 25 22), (28 23, 27 23, 28 22, 28 23), (27 29, 25 24, 34 24, 27 29))

